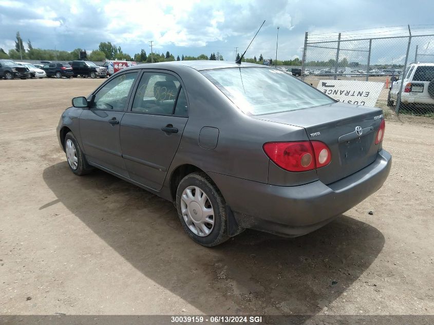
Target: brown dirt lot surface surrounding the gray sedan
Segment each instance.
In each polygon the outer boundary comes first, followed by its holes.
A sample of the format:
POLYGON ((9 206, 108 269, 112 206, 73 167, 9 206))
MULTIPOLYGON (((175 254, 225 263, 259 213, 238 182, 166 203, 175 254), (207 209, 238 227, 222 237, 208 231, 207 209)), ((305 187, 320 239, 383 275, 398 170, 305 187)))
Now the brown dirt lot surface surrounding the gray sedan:
POLYGON ((432 120, 388 120, 388 180, 320 230, 205 248, 171 202, 69 171, 55 127, 101 82, 0 80, 0 313, 434 314, 432 120))

